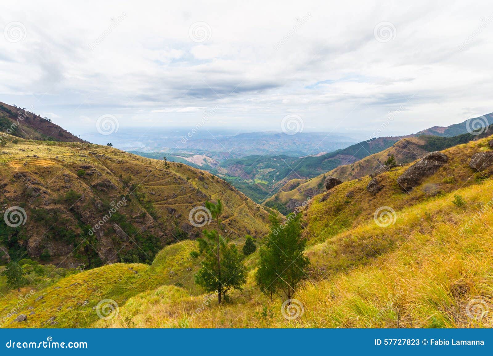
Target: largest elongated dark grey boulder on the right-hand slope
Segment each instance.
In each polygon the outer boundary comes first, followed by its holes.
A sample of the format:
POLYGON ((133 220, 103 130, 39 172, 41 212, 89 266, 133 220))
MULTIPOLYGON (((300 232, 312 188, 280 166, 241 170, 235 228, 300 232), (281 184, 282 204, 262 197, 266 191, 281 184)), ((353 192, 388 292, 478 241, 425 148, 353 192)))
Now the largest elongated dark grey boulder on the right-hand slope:
POLYGON ((441 152, 430 152, 397 178, 397 183, 405 191, 410 191, 420 184, 424 177, 435 173, 448 160, 448 157, 441 152))

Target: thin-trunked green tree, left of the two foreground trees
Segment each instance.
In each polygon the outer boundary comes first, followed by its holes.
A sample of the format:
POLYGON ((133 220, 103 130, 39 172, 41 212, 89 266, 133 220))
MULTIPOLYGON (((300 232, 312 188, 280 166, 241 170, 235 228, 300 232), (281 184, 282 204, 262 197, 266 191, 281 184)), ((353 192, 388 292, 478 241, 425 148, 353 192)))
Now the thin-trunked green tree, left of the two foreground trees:
POLYGON ((206 239, 199 239, 199 247, 206 257, 202 261, 202 267, 195 275, 195 282, 207 291, 217 290, 217 301, 222 302, 226 293, 231 289, 241 290, 246 282, 246 268, 243 265, 243 256, 234 244, 228 244, 222 237, 219 243, 219 255, 217 255, 216 230, 204 230, 206 239), (218 256, 220 264, 217 263, 218 256))

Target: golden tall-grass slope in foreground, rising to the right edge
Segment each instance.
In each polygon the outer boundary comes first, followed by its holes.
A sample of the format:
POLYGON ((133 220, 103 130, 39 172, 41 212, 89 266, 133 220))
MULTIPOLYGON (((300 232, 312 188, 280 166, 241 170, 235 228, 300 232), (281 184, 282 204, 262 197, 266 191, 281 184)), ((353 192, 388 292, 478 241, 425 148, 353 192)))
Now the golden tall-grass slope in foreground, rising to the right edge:
POLYGON ((326 269, 297 291, 304 315, 294 321, 282 317, 282 299, 271 302, 254 287, 253 271, 231 303, 218 306, 204 303, 205 295, 182 298, 176 289, 159 288, 93 326, 491 327, 491 314, 474 320, 466 310, 473 299, 493 303, 493 214, 474 221, 466 234, 458 230, 488 203, 483 192, 492 189, 487 181, 459 190, 465 208, 446 194, 397 211, 390 227, 371 222, 310 247, 314 266, 326 269))

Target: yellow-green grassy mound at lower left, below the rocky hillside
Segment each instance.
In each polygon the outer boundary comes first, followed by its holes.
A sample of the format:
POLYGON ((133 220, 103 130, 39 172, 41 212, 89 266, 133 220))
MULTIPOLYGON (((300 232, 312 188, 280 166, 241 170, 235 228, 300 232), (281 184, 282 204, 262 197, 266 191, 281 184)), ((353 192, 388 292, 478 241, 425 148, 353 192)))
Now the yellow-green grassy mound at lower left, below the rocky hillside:
POLYGON ((88 327, 99 320, 95 309, 99 301, 112 299, 123 306, 127 299, 163 285, 179 285, 183 295, 198 294, 201 289, 193 282, 197 263, 190 257, 194 250, 194 241, 182 241, 164 248, 151 266, 115 263, 71 275, 46 288, 36 283, 20 293, 11 291, 0 299, 4 316, 18 303, 18 294, 35 292, 18 311, 26 314, 28 321, 14 322, 17 315, 13 315, 2 327, 88 327), (43 298, 35 301, 41 295, 43 298), (30 315, 32 311, 34 315, 30 315), (57 324, 48 322, 52 317, 57 324))

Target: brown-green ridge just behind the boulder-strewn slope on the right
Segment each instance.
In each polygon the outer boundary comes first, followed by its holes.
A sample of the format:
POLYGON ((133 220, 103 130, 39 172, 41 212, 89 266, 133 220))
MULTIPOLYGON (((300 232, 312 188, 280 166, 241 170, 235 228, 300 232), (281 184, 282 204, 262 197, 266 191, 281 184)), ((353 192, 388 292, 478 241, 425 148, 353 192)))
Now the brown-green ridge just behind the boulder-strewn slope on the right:
POLYGON ((322 193, 325 190, 323 181, 327 176, 334 176, 343 181, 350 181, 375 172, 392 155, 397 164, 405 164, 423 157, 428 152, 440 151, 457 144, 480 139, 486 137, 488 133, 490 133, 489 130, 479 135, 465 133, 454 137, 421 135, 418 137, 403 138, 386 150, 365 157, 352 164, 340 165, 310 180, 290 181, 281 189, 281 192, 267 199, 264 204, 286 214, 302 202, 307 201, 308 198, 322 193), (290 187, 293 188, 289 189, 290 187))

